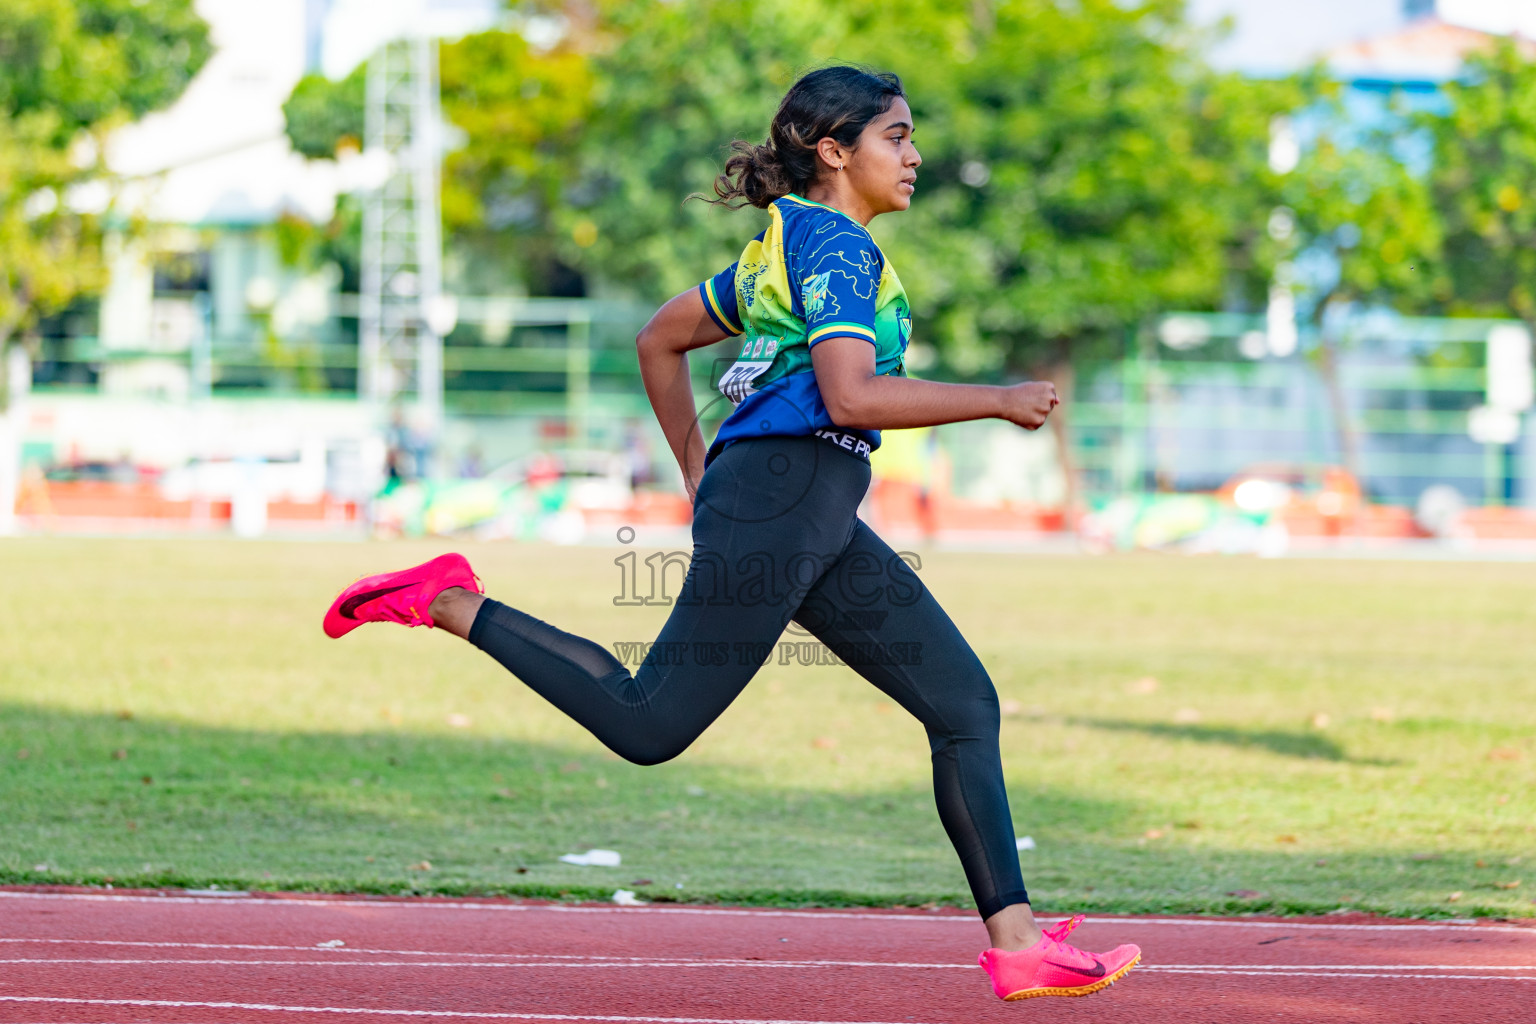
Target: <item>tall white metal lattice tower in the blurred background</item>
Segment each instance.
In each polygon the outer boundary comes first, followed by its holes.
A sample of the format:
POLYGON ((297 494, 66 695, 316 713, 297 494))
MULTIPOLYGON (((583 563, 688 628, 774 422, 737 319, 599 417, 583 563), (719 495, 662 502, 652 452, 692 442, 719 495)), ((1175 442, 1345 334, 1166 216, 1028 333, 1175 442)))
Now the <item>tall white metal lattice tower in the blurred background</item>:
POLYGON ((369 61, 364 150, 387 158, 364 193, 358 398, 387 405, 413 393, 442 418, 442 227, 438 193, 436 40, 386 43, 369 61))

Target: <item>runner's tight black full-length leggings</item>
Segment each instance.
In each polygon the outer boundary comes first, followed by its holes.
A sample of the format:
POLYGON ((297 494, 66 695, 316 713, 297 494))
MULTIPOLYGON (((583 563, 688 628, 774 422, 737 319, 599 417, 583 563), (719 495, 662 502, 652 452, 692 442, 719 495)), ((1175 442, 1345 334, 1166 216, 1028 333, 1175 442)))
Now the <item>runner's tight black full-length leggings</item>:
POLYGON ((631 676, 601 645, 487 600, 481 648, 636 765, 682 754, 794 620, 928 729, 938 817, 983 918, 1028 903, 992 680, 917 574, 856 514, 869 464, 819 438, 750 438, 710 462, 693 560, 631 676))

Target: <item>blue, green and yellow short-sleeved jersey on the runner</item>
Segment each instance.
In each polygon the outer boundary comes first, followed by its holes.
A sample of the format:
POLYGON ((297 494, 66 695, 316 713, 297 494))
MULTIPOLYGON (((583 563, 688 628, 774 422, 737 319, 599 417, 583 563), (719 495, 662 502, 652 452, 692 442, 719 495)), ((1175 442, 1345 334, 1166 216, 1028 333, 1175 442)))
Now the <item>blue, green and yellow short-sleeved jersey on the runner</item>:
POLYGON ((742 338, 740 355, 716 382, 736 408, 705 465, 742 438, 823 431, 866 456, 880 447, 880 431, 833 422, 811 348, 828 338, 862 338, 874 345, 876 373, 906 376, 906 293, 869 232, 846 213, 786 195, 770 218, 740 259, 699 286, 710 316, 742 338))

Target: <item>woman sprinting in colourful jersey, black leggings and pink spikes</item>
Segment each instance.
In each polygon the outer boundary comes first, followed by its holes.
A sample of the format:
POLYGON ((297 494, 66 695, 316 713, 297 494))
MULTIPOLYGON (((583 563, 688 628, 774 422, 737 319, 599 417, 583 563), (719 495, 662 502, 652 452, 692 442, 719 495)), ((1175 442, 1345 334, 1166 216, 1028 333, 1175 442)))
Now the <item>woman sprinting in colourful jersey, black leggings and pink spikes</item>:
POLYGON ((905 375, 906 295, 866 230, 911 204, 922 163, 895 75, 814 71, 779 104, 766 144, 733 150, 711 201, 768 210, 766 230, 636 338, 645 391, 693 499, 693 560, 639 669, 485 597, 459 554, 352 583, 326 613, 326 633, 364 622, 447 629, 608 749, 657 765, 682 754, 799 623, 928 731, 938 817, 991 938, 980 963, 994 992, 1097 992, 1141 950, 1075 949, 1066 940, 1081 915, 1046 930, 1035 923, 992 680, 917 574, 856 514, 882 428, 998 418, 1037 430, 1055 388, 905 375), (740 356, 717 387, 734 410, 705 448, 687 353, 731 336, 742 338, 740 356))

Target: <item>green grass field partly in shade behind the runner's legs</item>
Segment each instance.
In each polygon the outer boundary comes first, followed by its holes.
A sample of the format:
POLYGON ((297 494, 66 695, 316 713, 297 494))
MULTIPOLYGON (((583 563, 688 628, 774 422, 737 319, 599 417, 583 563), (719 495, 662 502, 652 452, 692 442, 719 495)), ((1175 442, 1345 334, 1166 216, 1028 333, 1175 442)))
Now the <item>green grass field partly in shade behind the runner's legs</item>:
MULTIPOLYGON (((851 669, 768 665, 636 768, 444 633, 321 634, 339 585, 439 550, 0 542, 0 881, 968 903, 922 729, 851 669), (624 864, 556 860, 591 846, 624 864)), ((461 550, 605 643, 665 617, 613 605, 617 548, 461 550)), ((920 574, 1005 702, 1037 906, 1536 915, 1531 567, 920 574)))

